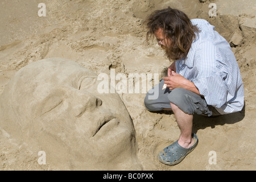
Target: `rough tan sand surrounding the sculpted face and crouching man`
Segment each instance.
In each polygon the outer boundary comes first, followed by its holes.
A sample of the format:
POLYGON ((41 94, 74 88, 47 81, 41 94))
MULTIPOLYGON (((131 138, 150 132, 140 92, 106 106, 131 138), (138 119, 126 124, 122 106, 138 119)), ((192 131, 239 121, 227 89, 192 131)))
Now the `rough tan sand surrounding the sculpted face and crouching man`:
MULTIPOLYGON (((115 69, 115 75, 151 73, 153 78, 156 74, 159 78, 166 75, 166 68, 171 62, 164 57, 156 42, 145 42, 146 30, 142 24, 152 11, 168 6, 184 11, 191 19, 208 20, 228 40, 240 66, 245 88, 245 110, 217 118, 195 115, 193 132, 199 137, 198 146, 180 164, 166 166, 156 156, 167 144, 179 138, 174 114, 147 111, 143 104, 143 89, 139 93, 120 94, 133 119, 138 159, 143 169, 255 170, 254 0, 2 0, 0 93, 20 68, 48 57, 76 61, 97 75, 110 75, 110 69, 115 69), (41 2, 46 5, 46 16, 38 15, 41 2), (209 17, 210 2, 216 3, 216 16, 209 17), (213 160, 214 154, 216 160, 213 160)), ((54 169, 47 163, 39 164, 38 158, 0 126, 0 170, 54 169)))

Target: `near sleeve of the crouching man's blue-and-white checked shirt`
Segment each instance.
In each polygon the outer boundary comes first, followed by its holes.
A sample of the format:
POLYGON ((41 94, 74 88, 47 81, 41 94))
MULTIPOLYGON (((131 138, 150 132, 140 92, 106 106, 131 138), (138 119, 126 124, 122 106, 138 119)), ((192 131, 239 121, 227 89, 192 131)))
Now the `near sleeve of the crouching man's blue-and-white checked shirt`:
POLYGON ((196 68, 197 76, 193 83, 204 96, 208 105, 220 108, 226 103, 228 89, 225 79, 228 76, 226 65, 219 60, 220 52, 210 42, 203 42, 195 54, 193 67, 196 68))

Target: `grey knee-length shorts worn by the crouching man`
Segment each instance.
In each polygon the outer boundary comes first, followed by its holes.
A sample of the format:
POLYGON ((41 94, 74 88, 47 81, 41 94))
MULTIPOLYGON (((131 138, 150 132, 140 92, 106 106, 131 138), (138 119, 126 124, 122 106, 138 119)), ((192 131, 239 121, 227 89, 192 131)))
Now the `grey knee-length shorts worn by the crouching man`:
POLYGON ((164 80, 160 80, 159 84, 146 94, 144 105, 149 111, 171 109, 170 102, 172 102, 187 114, 196 113, 209 117, 211 115, 221 115, 213 106, 207 105, 204 97, 183 88, 162 89, 163 85, 164 80))

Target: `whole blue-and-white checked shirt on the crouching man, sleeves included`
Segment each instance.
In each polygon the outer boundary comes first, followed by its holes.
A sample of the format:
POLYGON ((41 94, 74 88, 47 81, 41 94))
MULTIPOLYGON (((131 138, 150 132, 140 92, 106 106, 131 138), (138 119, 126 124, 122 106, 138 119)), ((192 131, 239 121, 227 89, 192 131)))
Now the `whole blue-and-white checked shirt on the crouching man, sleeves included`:
POLYGON ((176 73, 192 81, 221 114, 241 111, 243 82, 229 43, 204 19, 192 19, 200 32, 193 40, 187 59, 176 60, 176 73))

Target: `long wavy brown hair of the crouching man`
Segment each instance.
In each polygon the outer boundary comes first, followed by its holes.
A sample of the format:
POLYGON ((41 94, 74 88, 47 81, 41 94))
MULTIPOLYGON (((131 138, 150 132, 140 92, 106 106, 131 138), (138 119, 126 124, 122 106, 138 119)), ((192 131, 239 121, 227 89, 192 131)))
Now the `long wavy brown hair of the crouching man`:
POLYGON ((192 41, 199 32, 185 13, 171 7, 154 11, 144 23, 148 28, 147 41, 159 28, 163 28, 163 35, 171 40, 168 47, 162 46, 169 60, 186 58, 192 41))

